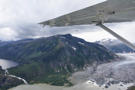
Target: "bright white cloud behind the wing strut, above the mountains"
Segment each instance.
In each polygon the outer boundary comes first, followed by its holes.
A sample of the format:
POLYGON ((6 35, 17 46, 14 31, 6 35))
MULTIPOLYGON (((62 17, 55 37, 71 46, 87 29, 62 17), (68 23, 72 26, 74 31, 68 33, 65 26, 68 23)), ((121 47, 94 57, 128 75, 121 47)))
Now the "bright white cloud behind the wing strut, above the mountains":
MULTIPOLYGON (((107 27, 112 29, 117 34, 121 35, 130 42, 135 42, 135 22, 126 22, 126 23, 114 23, 114 24, 105 24, 107 27)), ((81 37, 87 41, 94 42, 97 40, 111 38, 116 39, 110 33, 104 31, 100 27, 92 28, 92 31, 96 32, 83 32, 78 34, 73 34, 74 36, 81 37), (96 31, 98 30, 98 31, 96 31)))

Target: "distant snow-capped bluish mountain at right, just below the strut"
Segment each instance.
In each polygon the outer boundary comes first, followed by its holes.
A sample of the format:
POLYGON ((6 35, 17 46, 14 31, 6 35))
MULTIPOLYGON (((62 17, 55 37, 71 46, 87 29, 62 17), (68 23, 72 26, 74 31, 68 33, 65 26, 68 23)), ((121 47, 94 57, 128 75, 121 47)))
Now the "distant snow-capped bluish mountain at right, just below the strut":
POLYGON ((129 48, 127 45, 125 45, 119 40, 103 39, 101 41, 96 41, 96 43, 105 46, 107 49, 115 53, 135 52, 133 49, 129 48))

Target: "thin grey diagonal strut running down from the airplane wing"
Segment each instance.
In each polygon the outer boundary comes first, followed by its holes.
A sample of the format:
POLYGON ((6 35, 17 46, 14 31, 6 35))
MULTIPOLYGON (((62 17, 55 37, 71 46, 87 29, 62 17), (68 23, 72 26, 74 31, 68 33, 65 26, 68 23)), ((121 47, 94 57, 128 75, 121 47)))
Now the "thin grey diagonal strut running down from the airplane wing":
POLYGON ((123 43, 125 43, 127 46, 129 46, 130 48, 132 48, 133 50, 135 50, 135 46, 131 42, 129 42, 128 40, 124 39, 123 37, 121 37, 120 35, 118 35, 117 33, 115 33, 114 31, 112 31, 110 28, 106 27, 102 23, 97 24, 97 26, 99 26, 102 29, 104 29, 105 31, 109 32, 114 37, 116 37, 117 39, 119 39, 120 41, 122 41, 123 43))

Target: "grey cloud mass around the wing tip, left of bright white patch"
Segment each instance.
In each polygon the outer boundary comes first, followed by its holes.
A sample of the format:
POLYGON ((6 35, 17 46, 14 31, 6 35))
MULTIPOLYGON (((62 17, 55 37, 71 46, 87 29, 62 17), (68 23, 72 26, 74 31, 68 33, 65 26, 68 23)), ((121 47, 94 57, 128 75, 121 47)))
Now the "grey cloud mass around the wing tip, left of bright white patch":
POLYGON ((91 26, 43 29, 37 23, 96 3, 96 0, 0 0, 0 40, 80 32, 91 26))

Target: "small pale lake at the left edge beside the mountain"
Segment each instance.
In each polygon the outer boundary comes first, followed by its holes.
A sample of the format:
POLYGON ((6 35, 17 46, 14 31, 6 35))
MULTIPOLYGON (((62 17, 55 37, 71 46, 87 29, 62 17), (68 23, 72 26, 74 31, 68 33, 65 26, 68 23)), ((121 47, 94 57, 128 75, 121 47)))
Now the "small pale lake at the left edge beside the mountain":
POLYGON ((16 67, 18 63, 10 61, 10 60, 5 60, 5 59, 0 59, 0 66, 2 69, 9 69, 11 67, 16 67))

